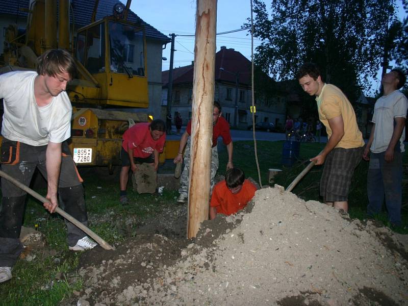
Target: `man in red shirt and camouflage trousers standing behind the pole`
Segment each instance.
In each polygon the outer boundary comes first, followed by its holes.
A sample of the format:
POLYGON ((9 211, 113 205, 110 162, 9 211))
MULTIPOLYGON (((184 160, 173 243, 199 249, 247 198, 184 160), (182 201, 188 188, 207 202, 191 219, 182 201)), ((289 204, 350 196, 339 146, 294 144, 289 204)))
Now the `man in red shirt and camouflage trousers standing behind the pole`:
MULTIPOLYGON (((187 124, 186 132, 184 132, 180 139, 179 154, 174 159, 174 164, 183 162, 183 150, 184 152, 184 169, 180 177, 180 196, 177 198, 177 202, 184 203, 188 197, 188 185, 189 185, 189 173, 190 173, 190 138, 191 135, 191 120, 187 124), (187 144, 187 146, 186 146, 187 144)), ((228 163, 226 169, 231 169, 233 165, 233 141, 231 139, 230 124, 221 117, 221 106, 218 102, 214 102, 213 108, 213 144, 212 144, 212 156, 211 156, 211 188, 210 194, 214 188, 214 177, 218 170, 218 151, 217 140, 218 137, 222 137, 226 150, 228 152, 228 163)))

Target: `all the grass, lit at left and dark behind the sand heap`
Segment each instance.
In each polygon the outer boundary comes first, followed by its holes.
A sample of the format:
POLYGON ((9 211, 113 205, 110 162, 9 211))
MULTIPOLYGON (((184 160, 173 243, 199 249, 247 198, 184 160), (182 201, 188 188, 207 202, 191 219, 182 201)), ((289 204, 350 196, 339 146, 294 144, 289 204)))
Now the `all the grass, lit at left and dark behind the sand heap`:
MULTIPOLYGON (((293 167, 282 167, 283 142, 258 141, 258 157, 263 185, 268 185, 268 169, 279 168, 283 171, 276 175, 275 183, 287 187, 297 174, 309 164, 309 158, 321 151, 324 144, 302 143, 300 159, 293 167)), ((220 169, 224 174, 227 162, 225 147, 219 150, 220 169)), ((408 154, 405 152, 403 163, 408 163, 408 154)), ((234 143, 234 165, 245 171, 246 176, 251 176, 258 181, 258 172, 254 159, 254 146, 250 141, 237 141, 234 143)), ((367 206, 366 162, 361 162, 356 169, 349 196, 349 214, 352 218, 363 219, 367 206)), ((406 167, 406 166, 405 166, 406 167)), ((169 171, 173 171, 173 166, 169 171)), ((293 192, 305 200, 320 200, 318 196, 318 182, 321 175, 321 166, 315 166, 299 182, 293 192)), ((405 187, 403 188, 403 202, 408 199, 408 186, 404 173, 405 187)), ((119 205, 118 178, 109 180, 103 176, 95 175, 94 171, 84 175, 86 203, 88 216, 91 220, 91 230, 108 243, 120 242, 126 236, 136 235, 136 226, 140 220, 154 218, 164 207, 175 205, 176 191, 164 190, 163 195, 139 195, 128 188, 128 197, 133 205, 122 207, 119 205), (107 222, 106 216, 109 216, 107 222), (124 221, 136 217, 136 222, 124 224, 124 221), (112 221, 113 220, 113 221, 112 221), (126 228, 124 228, 126 227, 126 228)), ((131 184, 130 184, 131 185, 131 184)), ((36 189, 40 194, 45 194, 45 189, 36 189)), ((376 217, 388 225, 386 212, 376 217)), ((57 215, 48 214, 42 205, 29 197, 24 215, 24 226, 36 228, 45 235, 46 247, 44 252, 38 254, 33 261, 18 260, 13 270, 11 281, 0 285, 0 305, 57 305, 67 298, 74 290, 82 288, 82 279, 75 272, 79 263, 80 254, 68 251, 66 244, 66 230, 63 219, 57 215)), ((408 212, 403 210, 403 226, 393 228, 394 231, 407 234, 408 212)))

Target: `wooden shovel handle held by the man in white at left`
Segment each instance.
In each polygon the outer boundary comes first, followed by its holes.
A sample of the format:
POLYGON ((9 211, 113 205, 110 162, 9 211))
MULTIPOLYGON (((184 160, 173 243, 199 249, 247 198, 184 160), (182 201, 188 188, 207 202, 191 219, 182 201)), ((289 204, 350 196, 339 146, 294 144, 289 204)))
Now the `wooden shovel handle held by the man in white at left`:
MULTIPOLYGON (((11 177, 10 175, 8 175, 7 173, 5 173, 5 172, 3 172, 1 170, 0 170, 0 176, 3 176, 6 180, 10 181, 11 183, 13 183, 17 187, 21 188, 25 192, 31 194, 37 200, 39 200, 39 201, 41 201, 43 203, 49 202, 49 200, 47 200, 45 197, 38 194, 37 192, 35 192, 31 188, 21 184, 16 179, 13 179, 13 177, 11 177)), ((98 235, 96 235, 94 232, 92 232, 88 227, 86 227, 84 224, 82 224, 80 221, 78 221, 77 219, 75 219, 71 215, 64 212, 59 207, 56 208, 55 212, 60 214, 62 217, 67 219, 69 222, 71 222, 72 224, 74 224, 78 228, 80 228, 80 230, 84 231, 89 237, 91 237, 93 240, 95 240, 97 243, 99 243, 99 245, 101 247, 103 247, 104 249, 106 249, 106 250, 114 250, 115 249, 114 246, 111 246, 110 244, 108 244, 104 239, 100 238, 98 235)))

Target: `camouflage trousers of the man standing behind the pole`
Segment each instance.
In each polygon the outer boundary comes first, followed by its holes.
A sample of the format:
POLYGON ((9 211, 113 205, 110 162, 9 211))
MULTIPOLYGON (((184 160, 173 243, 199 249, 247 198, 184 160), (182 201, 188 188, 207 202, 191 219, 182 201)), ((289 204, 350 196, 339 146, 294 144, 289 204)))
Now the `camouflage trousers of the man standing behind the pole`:
MULTIPOLYGON (((184 151, 184 169, 182 175, 180 176, 180 188, 179 193, 188 196, 188 185, 189 185, 189 174, 190 174, 190 146, 191 146, 191 137, 188 138, 186 144, 186 150, 184 151)), ((211 176, 210 176, 210 196, 213 193, 213 188, 215 185, 215 173, 218 170, 218 150, 217 146, 212 148, 211 152, 211 176)))

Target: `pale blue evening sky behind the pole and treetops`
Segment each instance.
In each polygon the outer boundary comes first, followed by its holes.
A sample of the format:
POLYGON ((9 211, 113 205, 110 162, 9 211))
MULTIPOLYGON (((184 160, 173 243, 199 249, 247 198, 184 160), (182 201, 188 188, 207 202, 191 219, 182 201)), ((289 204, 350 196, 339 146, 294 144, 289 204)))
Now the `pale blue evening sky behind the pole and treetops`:
MULTIPOLYGON (((126 0, 120 0, 126 4, 126 0)), ((402 10, 400 0, 399 16, 402 20, 405 15, 402 10)), ((174 33, 175 43, 174 64, 173 67, 182 67, 190 65, 194 60, 194 36, 183 37, 181 35, 194 35, 195 32, 195 4, 196 0, 133 0, 131 10, 135 12, 145 22, 155 27, 164 35, 174 33)), ((217 5, 217 33, 240 29, 250 17, 251 7, 249 0, 218 0, 217 5)), ((247 59, 251 59, 251 37, 248 31, 235 32, 230 34, 217 35, 216 52, 221 46, 234 48, 247 59)), ((261 40, 254 38, 253 52, 261 40)), ((162 70, 168 70, 170 66, 170 43, 163 50, 162 70)), ((393 65, 394 63, 390 63, 393 65)), ((373 93, 379 90, 381 70, 378 70, 377 79, 372 80, 372 86, 366 93, 373 93)))

